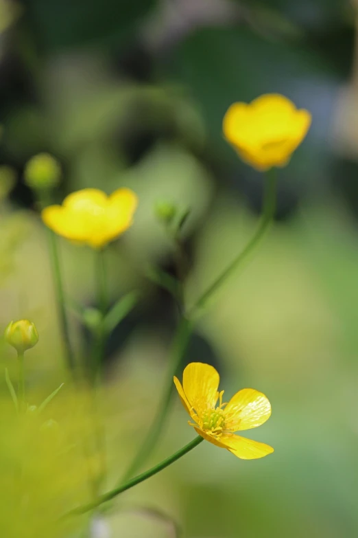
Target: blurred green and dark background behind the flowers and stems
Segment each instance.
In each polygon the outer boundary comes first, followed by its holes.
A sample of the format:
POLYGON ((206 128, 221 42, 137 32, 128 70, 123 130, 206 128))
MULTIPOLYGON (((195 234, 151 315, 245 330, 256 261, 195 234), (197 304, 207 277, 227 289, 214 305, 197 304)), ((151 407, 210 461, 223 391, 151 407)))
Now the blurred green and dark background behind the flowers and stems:
MULTIPOLYGON (((27 355, 34 403, 64 371, 27 159, 47 151, 60 161, 58 201, 120 186, 140 199, 134 226, 107 253, 112 302, 141 295, 106 352, 108 486, 150 425, 177 322, 169 294, 143 271, 173 269, 154 204, 191 209, 191 304, 245 244, 261 206, 261 175, 222 137, 226 109, 279 92, 313 115, 279 172, 270 236, 200 320, 184 361, 215 365, 228 395, 252 386, 269 396, 272 418, 249 433, 275 453, 246 462, 200 445, 122 495, 106 517, 113 537, 170 537, 171 519, 188 538, 358 535, 357 17, 348 0, 0 0, 0 164, 14 179, 7 193, 0 177, 0 325, 29 317, 38 327, 27 355)), ((93 252, 60 247, 67 292, 95 306, 93 252)), ((71 331, 88 350, 74 316, 71 331)), ((1 378, 5 367, 16 374, 2 346, 1 378)), ((53 407, 59 421, 71 411, 53 407)), ((148 464, 192 434, 177 401, 148 464)))

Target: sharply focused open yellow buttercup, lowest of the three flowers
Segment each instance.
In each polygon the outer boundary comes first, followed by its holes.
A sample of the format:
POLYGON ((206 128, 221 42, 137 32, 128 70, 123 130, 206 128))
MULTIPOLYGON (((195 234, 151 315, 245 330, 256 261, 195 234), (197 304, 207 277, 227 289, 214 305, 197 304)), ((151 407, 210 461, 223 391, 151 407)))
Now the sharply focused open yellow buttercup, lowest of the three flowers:
POLYGON ((234 434, 235 431, 261 426, 270 418, 271 405, 265 394, 254 389, 243 389, 232 396, 228 403, 222 403, 224 390, 217 390, 219 374, 213 366, 201 362, 190 363, 184 369, 182 385, 176 377, 174 383, 182 405, 194 421, 189 424, 204 439, 243 460, 263 458, 274 451, 263 442, 234 434))

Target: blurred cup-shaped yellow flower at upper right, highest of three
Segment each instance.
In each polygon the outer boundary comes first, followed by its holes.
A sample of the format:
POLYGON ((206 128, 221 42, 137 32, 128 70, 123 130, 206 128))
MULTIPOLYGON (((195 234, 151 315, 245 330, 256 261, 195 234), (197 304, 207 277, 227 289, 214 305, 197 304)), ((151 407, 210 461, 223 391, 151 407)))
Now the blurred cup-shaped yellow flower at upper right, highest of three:
POLYGON ((278 93, 267 93, 250 104, 232 104, 223 131, 243 161, 257 170, 268 170, 288 163, 310 125, 309 111, 297 110, 278 93))

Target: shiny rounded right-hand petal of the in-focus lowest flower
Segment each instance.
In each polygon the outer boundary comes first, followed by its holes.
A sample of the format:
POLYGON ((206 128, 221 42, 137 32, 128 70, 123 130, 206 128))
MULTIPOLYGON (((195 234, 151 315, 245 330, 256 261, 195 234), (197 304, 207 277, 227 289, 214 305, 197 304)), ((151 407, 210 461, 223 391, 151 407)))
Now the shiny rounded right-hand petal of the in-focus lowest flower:
POLYGON ((226 405, 224 416, 229 431, 256 428, 270 418, 271 404, 262 392, 239 390, 226 405))

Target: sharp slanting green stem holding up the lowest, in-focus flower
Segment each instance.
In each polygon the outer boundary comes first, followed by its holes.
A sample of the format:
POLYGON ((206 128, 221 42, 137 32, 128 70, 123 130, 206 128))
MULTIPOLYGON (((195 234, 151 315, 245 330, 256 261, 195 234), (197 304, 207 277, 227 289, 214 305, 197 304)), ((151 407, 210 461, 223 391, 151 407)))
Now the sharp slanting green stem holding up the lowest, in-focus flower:
POLYGON ((193 450, 193 448, 198 447, 200 445, 200 442, 202 442, 204 438, 201 436, 195 437, 191 442, 189 442, 187 445, 182 447, 180 450, 174 452, 169 458, 166 458, 162 462, 158 463, 157 465, 154 465, 152 469, 149 469, 148 471, 145 471, 144 473, 141 473, 140 475, 132 478, 132 480, 128 480, 125 484, 122 484, 121 486, 118 486, 115 489, 112 489, 108 491, 108 493, 104 493, 104 495, 101 495, 99 499, 95 502, 91 502, 89 504, 85 504, 84 506, 79 506, 78 508, 75 508, 71 512, 67 513, 67 515, 79 515, 86 513, 88 511, 93 510, 94 508, 97 508, 100 504, 103 504, 104 502, 108 502, 120 493, 123 493, 123 491, 127 491, 128 489, 136 486, 137 484, 140 484, 141 482, 144 482, 144 480, 148 480, 148 478, 151 478, 152 476, 156 475, 156 473, 159 473, 160 471, 163 471, 165 467, 169 467, 172 463, 176 462, 182 456, 193 450))

